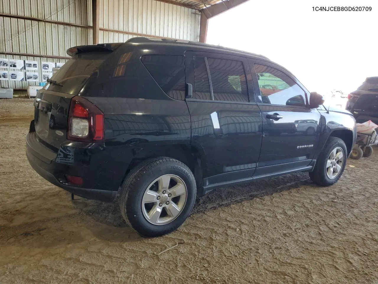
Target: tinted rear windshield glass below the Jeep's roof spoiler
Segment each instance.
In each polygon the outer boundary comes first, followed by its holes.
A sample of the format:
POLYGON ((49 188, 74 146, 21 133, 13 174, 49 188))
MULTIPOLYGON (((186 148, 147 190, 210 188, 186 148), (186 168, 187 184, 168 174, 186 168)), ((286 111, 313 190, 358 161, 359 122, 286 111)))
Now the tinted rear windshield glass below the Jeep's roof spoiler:
POLYGON ((87 52, 74 55, 52 77, 58 84, 48 84, 45 89, 77 95, 89 77, 98 69, 111 52, 87 52))

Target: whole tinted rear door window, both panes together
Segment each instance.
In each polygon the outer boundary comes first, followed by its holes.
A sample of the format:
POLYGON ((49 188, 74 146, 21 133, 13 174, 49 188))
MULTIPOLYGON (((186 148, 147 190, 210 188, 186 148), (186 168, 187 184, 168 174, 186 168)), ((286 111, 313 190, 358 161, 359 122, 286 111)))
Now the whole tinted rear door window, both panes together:
POLYGON ((248 102, 243 62, 219 58, 194 58, 194 98, 248 102))

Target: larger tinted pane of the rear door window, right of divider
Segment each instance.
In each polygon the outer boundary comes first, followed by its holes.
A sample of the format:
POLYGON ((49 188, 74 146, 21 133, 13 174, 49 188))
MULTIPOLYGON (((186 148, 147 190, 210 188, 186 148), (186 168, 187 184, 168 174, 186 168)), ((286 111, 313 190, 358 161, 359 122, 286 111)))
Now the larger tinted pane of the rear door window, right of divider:
POLYGON ((215 101, 248 102, 243 62, 208 58, 208 64, 215 101))

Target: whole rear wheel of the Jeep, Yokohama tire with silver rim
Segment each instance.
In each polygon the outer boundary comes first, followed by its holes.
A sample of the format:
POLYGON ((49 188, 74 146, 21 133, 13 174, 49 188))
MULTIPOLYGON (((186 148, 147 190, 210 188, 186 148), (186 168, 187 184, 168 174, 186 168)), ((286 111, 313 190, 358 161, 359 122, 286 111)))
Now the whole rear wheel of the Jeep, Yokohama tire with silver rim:
POLYGON ((166 157, 149 159, 125 179, 119 206, 135 231, 157 237, 181 226, 194 206, 196 192, 195 178, 185 164, 166 157))

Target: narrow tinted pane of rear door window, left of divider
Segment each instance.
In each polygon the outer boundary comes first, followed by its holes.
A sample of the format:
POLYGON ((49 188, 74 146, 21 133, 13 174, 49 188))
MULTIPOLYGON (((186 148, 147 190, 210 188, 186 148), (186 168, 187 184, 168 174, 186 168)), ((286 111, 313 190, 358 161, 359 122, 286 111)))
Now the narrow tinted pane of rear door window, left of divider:
POLYGON ((194 98, 211 100, 209 74, 203 57, 194 58, 194 98))

